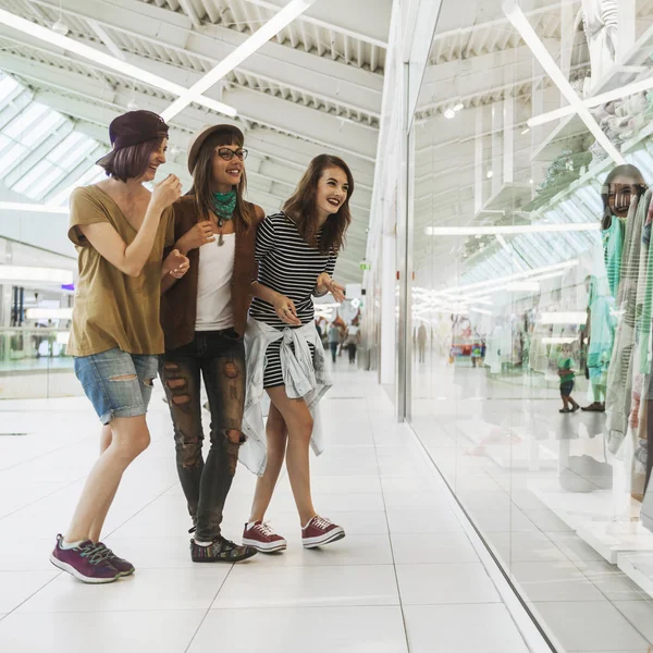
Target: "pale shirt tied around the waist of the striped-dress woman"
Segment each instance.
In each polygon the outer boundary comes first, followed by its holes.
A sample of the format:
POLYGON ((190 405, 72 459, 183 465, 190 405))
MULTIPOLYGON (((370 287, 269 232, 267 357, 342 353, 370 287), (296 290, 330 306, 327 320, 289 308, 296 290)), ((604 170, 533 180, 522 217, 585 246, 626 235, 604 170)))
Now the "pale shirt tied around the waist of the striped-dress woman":
POLYGON ((274 329, 264 322, 249 318, 245 330, 245 350, 247 353, 247 393, 243 415, 243 433, 247 441, 241 446, 239 460, 257 476, 262 476, 268 464, 266 429, 261 399, 263 397, 263 373, 266 352, 273 342, 281 340, 281 371, 286 395, 291 399, 304 398, 313 418, 313 431, 310 445, 319 456, 324 451, 322 429, 320 427, 318 403, 333 385, 326 370, 324 348, 318 335, 315 322, 298 329, 274 329), (294 345, 295 352, 291 348, 294 345), (315 362, 310 347, 316 348, 315 362))

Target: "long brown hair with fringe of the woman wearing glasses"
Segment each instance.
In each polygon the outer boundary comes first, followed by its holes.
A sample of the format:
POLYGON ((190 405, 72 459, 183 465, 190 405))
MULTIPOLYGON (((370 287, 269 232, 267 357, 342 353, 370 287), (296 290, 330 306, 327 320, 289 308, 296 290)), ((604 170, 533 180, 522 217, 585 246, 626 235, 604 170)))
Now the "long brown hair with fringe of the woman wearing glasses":
MULTIPOLYGON (((188 195, 195 196, 195 208, 201 220, 209 220, 213 214, 213 196, 211 180, 213 177, 213 156, 219 145, 237 145, 243 147, 243 140, 227 130, 211 134, 199 148, 195 168, 193 169, 193 187, 188 195)), ((246 232, 254 222, 254 206, 244 198, 247 190, 247 175, 243 168, 243 175, 236 186, 236 210, 234 211, 234 226, 237 232, 246 232)))

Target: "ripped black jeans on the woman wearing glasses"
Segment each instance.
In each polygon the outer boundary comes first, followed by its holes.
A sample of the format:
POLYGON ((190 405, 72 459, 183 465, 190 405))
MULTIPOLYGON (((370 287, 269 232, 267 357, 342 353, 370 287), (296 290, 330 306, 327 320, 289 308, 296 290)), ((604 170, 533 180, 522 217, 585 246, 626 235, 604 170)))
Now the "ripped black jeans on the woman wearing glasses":
POLYGON ((245 343, 233 329, 198 331, 193 342, 160 357, 159 374, 174 426, 180 481, 197 526, 195 539, 212 542, 220 535, 224 502, 244 441, 245 343), (211 448, 206 461, 200 373, 211 410, 211 448))

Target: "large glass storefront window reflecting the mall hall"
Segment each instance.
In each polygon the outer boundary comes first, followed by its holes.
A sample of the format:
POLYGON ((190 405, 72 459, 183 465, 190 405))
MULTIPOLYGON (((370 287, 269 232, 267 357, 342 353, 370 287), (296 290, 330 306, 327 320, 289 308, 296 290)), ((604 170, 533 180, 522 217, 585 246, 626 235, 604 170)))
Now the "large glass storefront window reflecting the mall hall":
POLYGON ((444 0, 412 127, 411 426, 560 651, 653 643, 652 26, 444 0))

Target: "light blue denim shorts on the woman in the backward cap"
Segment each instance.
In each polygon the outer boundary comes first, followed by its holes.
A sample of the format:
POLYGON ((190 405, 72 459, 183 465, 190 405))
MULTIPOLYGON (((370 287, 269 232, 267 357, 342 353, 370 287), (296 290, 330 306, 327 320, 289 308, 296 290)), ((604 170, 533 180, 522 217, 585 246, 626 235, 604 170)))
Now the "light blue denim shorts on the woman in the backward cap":
POLYGON ((75 374, 103 424, 147 412, 158 359, 118 348, 75 357, 75 374))

